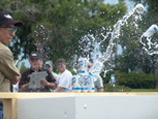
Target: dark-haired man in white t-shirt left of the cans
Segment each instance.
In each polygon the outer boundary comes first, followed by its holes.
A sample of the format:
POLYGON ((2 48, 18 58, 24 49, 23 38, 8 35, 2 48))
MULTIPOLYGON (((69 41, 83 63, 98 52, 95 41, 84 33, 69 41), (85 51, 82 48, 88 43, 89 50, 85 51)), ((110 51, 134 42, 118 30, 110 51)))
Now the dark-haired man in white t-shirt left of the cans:
POLYGON ((55 92, 72 92, 72 74, 66 69, 64 59, 57 60, 59 74, 57 77, 57 89, 55 92))

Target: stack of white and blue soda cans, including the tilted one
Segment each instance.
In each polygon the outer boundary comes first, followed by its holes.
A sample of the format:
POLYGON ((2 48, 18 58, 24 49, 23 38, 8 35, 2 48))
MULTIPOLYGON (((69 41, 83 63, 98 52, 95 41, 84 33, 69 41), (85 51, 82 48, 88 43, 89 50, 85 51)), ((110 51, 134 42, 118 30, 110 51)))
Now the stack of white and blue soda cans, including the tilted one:
POLYGON ((73 92, 94 92, 94 81, 100 74, 102 63, 96 61, 90 71, 87 71, 88 60, 86 58, 79 58, 78 60, 78 74, 72 78, 73 92))

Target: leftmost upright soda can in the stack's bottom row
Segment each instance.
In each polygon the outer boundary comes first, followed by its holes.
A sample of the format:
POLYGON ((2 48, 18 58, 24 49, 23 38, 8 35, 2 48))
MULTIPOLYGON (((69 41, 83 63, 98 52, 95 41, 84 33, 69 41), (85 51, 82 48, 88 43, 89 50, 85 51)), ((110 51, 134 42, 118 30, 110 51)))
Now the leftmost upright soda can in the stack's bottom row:
POLYGON ((72 77, 72 91, 73 92, 81 92, 81 77, 79 75, 74 75, 72 77))

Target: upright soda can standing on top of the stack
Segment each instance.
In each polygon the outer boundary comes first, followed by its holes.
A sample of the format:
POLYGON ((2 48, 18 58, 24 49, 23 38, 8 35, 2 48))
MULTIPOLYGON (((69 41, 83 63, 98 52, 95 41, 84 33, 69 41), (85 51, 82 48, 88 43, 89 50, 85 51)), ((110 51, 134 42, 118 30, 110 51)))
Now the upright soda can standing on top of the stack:
POLYGON ((87 75, 87 59, 86 58, 79 58, 78 73, 80 75, 87 75))

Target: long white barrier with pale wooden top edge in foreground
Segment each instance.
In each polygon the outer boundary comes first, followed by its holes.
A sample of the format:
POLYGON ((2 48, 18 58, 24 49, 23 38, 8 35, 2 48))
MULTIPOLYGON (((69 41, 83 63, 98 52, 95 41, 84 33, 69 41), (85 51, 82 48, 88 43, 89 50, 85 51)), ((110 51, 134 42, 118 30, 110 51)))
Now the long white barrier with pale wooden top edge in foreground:
POLYGON ((158 93, 27 93, 12 98, 14 119, 158 119, 158 93))

